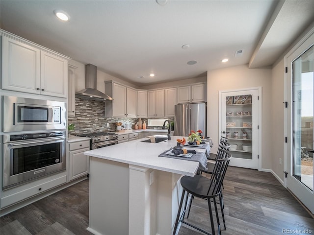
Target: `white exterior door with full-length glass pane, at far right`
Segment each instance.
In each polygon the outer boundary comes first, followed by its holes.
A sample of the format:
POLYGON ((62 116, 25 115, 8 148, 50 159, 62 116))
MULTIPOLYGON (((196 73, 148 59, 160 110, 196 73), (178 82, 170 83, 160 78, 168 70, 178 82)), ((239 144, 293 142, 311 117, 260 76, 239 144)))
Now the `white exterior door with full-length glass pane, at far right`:
POLYGON ((314 213, 314 34, 287 57, 287 188, 314 213), (291 105, 289 105, 291 104, 291 105))

